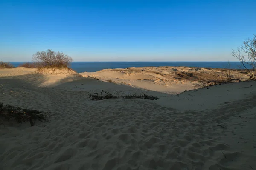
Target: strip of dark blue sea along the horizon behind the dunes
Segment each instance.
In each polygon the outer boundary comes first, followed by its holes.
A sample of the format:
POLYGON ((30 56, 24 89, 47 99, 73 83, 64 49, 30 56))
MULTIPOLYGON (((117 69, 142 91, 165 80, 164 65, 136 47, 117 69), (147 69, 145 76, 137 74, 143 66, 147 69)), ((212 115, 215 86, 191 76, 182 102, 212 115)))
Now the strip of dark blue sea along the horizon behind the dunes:
MULTIPOLYGON (((24 62, 10 62, 15 67, 24 62)), ((239 69, 240 62, 72 62, 70 67, 77 71, 82 72, 96 72, 108 68, 129 68, 129 67, 160 67, 160 66, 173 66, 173 67, 204 67, 204 68, 233 68, 239 69)))

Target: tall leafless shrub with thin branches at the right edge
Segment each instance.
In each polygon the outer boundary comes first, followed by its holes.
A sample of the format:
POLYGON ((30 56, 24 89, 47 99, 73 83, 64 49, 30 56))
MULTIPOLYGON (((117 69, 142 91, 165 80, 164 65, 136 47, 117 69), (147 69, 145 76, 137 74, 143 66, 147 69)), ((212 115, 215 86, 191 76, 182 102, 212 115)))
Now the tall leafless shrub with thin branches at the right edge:
POLYGON ((256 79, 256 34, 253 39, 245 40, 244 45, 237 48, 237 51, 231 53, 241 62, 239 66, 241 69, 247 71, 250 74, 250 79, 256 79), (243 54, 242 54, 243 53, 243 54), (247 59, 246 59, 247 58, 247 59))

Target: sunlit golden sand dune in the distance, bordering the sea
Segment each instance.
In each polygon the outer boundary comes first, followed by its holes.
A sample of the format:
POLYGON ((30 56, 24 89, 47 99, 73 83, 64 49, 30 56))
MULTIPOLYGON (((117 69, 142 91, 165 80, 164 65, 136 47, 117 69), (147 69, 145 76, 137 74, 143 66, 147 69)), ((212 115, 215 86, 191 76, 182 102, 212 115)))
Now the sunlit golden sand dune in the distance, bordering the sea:
MULTIPOLYGON (((219 68, 190 67, 139 67, 105 69, 97 72, 80 73, 84 77, 96 77, 102 81, 130 85, 150 91, 179 94, 185 90, 198 88, 198 82, 212 75, 220 75, 219 68)), ((233 70, 234 77, 248 79, 249 75, 233 70)))

